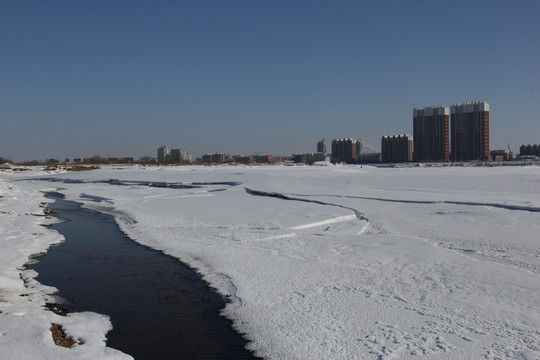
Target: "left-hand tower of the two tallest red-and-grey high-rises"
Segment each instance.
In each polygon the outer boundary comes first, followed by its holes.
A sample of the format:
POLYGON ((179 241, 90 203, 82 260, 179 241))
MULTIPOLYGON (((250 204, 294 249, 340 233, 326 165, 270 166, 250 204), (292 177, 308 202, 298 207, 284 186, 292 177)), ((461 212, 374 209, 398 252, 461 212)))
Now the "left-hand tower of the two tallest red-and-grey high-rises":
POLYGON ((414 161, 450 160, 449 114, 447 106, 413 109, 414 161))

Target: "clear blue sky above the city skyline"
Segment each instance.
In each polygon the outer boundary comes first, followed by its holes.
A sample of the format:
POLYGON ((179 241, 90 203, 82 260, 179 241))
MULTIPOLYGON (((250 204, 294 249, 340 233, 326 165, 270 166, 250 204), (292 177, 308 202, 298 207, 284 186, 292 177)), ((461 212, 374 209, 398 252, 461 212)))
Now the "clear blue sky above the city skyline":
POLYGON ((540 143, 540 1, 0 0, 0 156, 290 155, 485 100, 540 143))

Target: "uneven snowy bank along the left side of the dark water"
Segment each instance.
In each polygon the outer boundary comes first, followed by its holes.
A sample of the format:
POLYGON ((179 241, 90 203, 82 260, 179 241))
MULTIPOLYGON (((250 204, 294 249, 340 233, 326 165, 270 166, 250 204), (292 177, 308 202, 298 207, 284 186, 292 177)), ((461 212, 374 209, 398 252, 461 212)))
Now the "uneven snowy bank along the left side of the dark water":
MULTIPOLYGON (((41 174, 41 172, 38 172, 41 174)), ((25 173, 25 175, 28 175, 25 173)), ((56 301, 55 289, 35 281, 24 270, 32 255, 63 241, 43 225, 55 221, 45 216, 47 199, 36 189, 0 178, 0 348, 3 359, 126 359, 105 347, 111 324, 107 316, 76 313, 61 316, 46 310, 56 301), (68 349, 54 344, 51 326, 61 325, 76 344, 68 349)))

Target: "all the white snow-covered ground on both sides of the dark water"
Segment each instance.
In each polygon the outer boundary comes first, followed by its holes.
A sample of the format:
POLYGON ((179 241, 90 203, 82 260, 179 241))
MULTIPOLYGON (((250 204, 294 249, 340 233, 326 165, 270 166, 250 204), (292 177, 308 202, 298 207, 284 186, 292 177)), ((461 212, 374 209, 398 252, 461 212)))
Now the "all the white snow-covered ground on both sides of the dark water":
POLYGON ((539 166, 44 174, 0 173, 8 359, 124 357, 104 346, 106 316, 43 310, 51 289, 21 271, 29 255, 61 241, 40 226, 52 219, 31 215, 51 188, 197 268, 231 299, 224 314, 264 358, 540 358, 539 166), (84 341, 55 346, 51 323, 84 341))

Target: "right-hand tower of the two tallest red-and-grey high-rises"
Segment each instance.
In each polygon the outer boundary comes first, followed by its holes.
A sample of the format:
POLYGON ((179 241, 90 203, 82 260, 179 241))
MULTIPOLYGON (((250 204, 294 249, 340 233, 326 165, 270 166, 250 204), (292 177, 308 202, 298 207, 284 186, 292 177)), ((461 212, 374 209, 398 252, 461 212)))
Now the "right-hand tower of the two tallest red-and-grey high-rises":
POLYGON ((489 160, 489 104, 454 104, 450 120, 452 161, 489 160))

